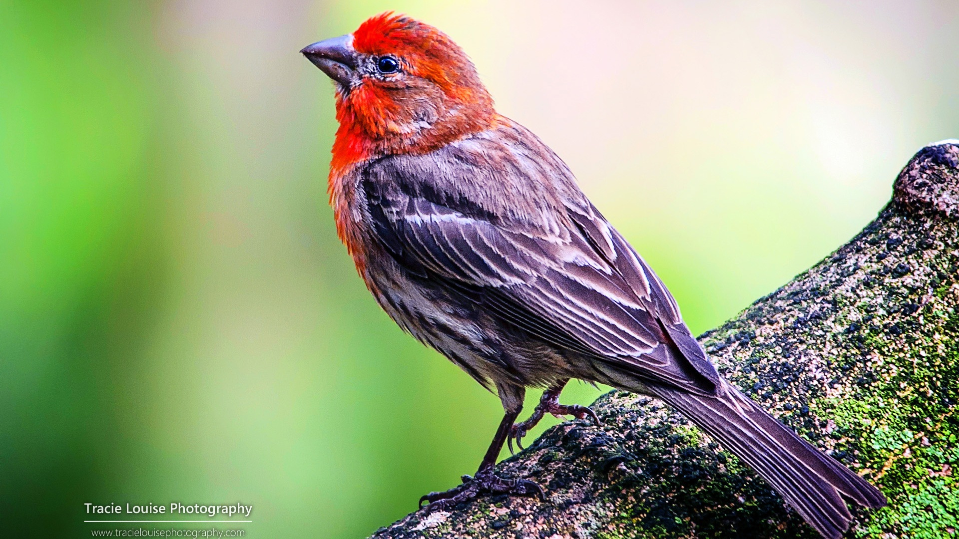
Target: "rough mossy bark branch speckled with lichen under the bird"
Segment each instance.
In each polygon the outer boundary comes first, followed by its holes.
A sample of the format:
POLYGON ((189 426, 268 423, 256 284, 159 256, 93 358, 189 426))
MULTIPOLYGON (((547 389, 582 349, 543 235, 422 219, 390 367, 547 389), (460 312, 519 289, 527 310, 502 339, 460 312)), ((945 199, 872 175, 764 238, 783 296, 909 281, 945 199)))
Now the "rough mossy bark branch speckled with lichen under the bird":
MULTIPOLYGON (((699 340, 719 370, 889 498, 849 537, 959 528, 959 141, 925 147, 849 244, 699 340)), ((374 537, 815 538, 765 481, 665 405, 622 391, 503 461, 548 500, 417 511, 374 537)))

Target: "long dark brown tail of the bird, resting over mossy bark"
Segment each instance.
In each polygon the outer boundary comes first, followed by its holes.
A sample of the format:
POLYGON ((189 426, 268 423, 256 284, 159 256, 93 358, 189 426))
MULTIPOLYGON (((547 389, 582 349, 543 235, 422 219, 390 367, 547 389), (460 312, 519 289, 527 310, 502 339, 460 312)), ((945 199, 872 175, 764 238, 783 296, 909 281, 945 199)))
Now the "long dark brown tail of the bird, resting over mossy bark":
POLYGON ((727 382, 716 396, 645 387, 752 466, 786 502, 828 539, 838 539, 853 516, 842 494, 867 507, 885 497, 837 460, 815 449, 727 382))

